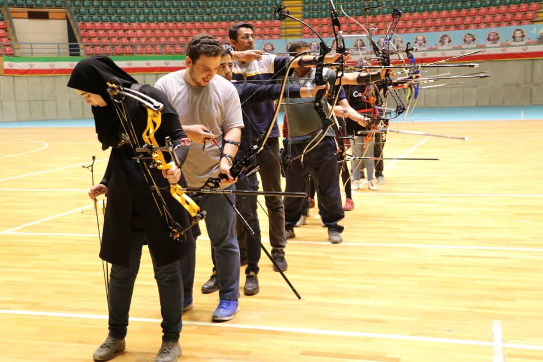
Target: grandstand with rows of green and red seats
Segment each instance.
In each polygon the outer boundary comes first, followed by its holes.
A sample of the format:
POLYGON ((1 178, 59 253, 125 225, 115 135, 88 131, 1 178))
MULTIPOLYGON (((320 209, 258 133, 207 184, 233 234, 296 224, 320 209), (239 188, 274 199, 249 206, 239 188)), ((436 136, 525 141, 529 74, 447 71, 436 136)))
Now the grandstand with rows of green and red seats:
MULTIPOLYGON (((5 0, 0 11, 0 47, 4 55, 18 54, 16 29, 11 12, 65 11, 72 23, 81 54, 182 54, 186 43, 206 32, 228 43, 232 23, 254 25, 259 39, 277 40, 283 36, 310 39, 310 29, 300 24, 273 19, 281 0, 260 1, 61 1, 5 0), (8 21, 4 21, 6 18, 8 21)), ((327 0, 285 1, 293 15, 304 18, 323 37, 333 36, 327 0)), ((348 14, 362 24, 372 24, 384 34, 392 20, 390 8, 365 11, 359 1, 338 1, 348 14)), ((369 1, 366 6, 386 4, 403 11, 396 33, 431 33, 465 29, 524 26, 540 21, 541 6, 531 0, 392 0, 369 1)), ((356 34, 358 24, 341 17, 345 34, 356 34)), ((27 54, 24 54, 27 55, 27 54)))

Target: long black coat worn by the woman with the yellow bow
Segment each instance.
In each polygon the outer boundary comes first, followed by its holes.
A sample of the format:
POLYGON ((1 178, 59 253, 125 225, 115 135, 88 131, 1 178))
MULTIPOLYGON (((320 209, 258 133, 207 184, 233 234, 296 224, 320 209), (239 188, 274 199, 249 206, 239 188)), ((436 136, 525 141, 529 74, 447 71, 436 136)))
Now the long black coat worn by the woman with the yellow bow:
MULTIPOLYGON (((140 92, 160 101, 165 105, 162 110, 162 124, 155 134, 158 144, 163 145, 166 136, 172 141, 186 137, 181 129, 179 118, 175 110, 169 105, 166 96, 156 88, 144 85, 140 92)), ((143 144, 141 134, 147 125, 147 111, 138 105, 135 100, 127 98, 125 107, 134 125, 135 133, 140 144, 143 144)), ((194 248, 194 239, 199 235, 198 226, 186 233, 185 240, 173 240, 169 236, 166 219, 159 213, 162 203, 157 197, 159 207, 156 206, 148 183, 144 179, 144 168, 140 163, 132 160, 132 149, 129 145, 113 148, 109 157, 102 182, 108 187, 108 207, 104 219, 104 233, 100 258, 112 264, 128 266, 129 243, 131 231, 146 233, 149 251, 155 263, 159 266, 172 263, 181 258, 184 253, 194 248)), ((185 155, 186 156, 186 155, 185 155)), ((159 187, 167 187, 161 192, 162 199, 166 201, 173 218, 183 227, 190 223, 187 211, 172 198, 169 193, 168 181, 157 169, 151 169, 153 180, 159 187)), ((180 181, 184 185, 184 180, 180 181)), ((156 195, 156 193, 155 193, 156 195)))

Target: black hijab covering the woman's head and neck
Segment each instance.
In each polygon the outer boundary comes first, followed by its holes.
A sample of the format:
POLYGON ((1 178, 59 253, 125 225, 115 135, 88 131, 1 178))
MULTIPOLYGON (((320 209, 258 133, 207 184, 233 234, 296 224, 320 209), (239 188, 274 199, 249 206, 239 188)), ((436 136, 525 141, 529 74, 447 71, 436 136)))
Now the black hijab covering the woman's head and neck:
POLYGON ((121 121, 115 112, 106 86, 106 82, 111 77, 117 78, 126 88, 137 83, 137 80, 130 77, 105 55, 91 56, 81 60, 75 65, 68 81, 68 87, 98 94, 108 104, 104 107, 92 107, 98 141, 102 143, 103 150, 115 147, 121 141, 121 121))

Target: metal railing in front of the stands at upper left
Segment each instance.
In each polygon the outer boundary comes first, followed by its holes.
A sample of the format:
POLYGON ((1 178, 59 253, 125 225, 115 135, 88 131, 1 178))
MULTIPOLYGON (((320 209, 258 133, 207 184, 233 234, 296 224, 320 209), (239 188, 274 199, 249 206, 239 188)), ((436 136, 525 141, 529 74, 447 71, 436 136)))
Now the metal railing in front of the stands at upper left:
POLYGON ((111 43, 99 44, 99 45, 86 45, 83 43, 0 43, 0 55, 14 55, 14 56, 87 56, 87 55, 160 55, 160 54, 184 54, 185 44, 175 43, 168 45, 160 45, 160 52, 157 52, 158 46, 141 47, 135 45, 113 45, 111 43), (14 50, 14 54, 8 54, 5 52, 5 48, 10 47, 14 50), (175 47, 181 47, 179 52, 174 53, 175 47), (96 49, 101 49, 101 52, 96 52, 96 49), (116 52, 122 48, 121 52, 116 52), (130 52, 125 52, 125 49, 130 48, 130 52), (172 49, 172 52, 167 52, 168 48, 172 49))

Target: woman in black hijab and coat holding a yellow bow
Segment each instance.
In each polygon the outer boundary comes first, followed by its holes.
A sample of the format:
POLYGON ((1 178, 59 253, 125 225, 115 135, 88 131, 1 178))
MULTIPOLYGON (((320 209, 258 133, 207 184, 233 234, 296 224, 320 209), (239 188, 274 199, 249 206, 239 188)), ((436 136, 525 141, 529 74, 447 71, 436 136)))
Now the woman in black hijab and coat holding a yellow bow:
MULTIPOLYGON (((91 199, 101 194, 108 196, 100 258, 112 264, 108 300, 109 334, 94 352, 93 358, 108 360, 113 358, 115 352, 124 350, 132 290, 140 266, 142 247, 148 244, 159 287, 162 313, 162 346, 156 361, 174 361, 181 354, 179 333, 184 307, 178 261, 185 253, 193 250, 199 229, 195 226, 186 232, 184 241, 174 240, 170 236, 165 218, 159 213, 151 194, 144 169, 141 164, 132 160, 135 154, 130 144, 123 142, 122 121, 106 91, 106 82, 111 77, 117 78, 125 88, 134 88, 132 85, 137 84, 134 78, 106 56, 81 60, 68 81, 68 87, 74 88, 87 104, 92 105, 96 133, 102 149, 111 147, 104 178, 89 192, 91 199)), ((165 137, 169 136, 174 145, 180 144, 186 135, 166 96, 149 85, 142 85, 138 91, 164 105, 162 123, 155 134, 157 143, 165 144, 165 137)), ((138 143, 144 144, 141 135, 147 125, 146 108, 130 97, 125 98, 124 106, 127 118, 134 127, 136 136, 140 138, 138 143)), ((181 146, 175 152, 182 164, 188 147, 181 146)), ((151 176, 156 185, 169 189, 168 181, 180 181, 181 171, 174 167, 161 174, 159 170, 151 169, 151 176)), ((181 182, 184 180, 181 179, 181 182)), ((162 199, 174 220, 183 228, 188 227, 190 219, 185 209, 167 192, 162 194, 162 199)))

